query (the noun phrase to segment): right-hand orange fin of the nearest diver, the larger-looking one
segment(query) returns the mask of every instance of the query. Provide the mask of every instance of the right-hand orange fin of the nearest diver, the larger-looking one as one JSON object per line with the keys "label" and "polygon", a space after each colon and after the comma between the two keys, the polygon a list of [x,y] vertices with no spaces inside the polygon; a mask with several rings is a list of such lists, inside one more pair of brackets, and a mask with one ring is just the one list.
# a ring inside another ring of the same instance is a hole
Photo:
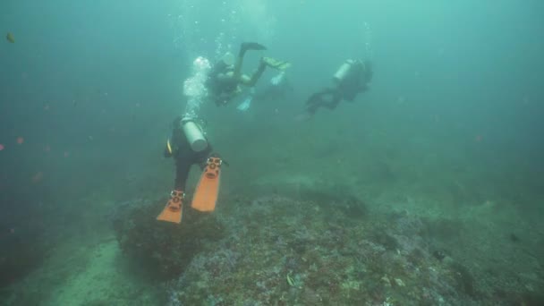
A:
{"label": "right-hand orange fin of the nearest diver, the larger-looking one", "polygon": [[192,197],[191,208],[200,211],[214,211],[216,209],[217,194],[221,178],[221,158],[209,157],[204,172],[200,176],[197,190]]}

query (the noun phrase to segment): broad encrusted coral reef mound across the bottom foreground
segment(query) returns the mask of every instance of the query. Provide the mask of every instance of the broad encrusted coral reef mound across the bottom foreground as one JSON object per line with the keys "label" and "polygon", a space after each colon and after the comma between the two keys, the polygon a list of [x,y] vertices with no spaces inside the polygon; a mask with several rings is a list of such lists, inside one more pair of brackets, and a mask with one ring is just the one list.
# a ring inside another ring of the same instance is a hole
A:
{"label": "broad encrusted coral reef mound across the bottom foreground", "polygon": [[[124,251],[172,279],[166,285],[169,305],[540,301],[526,283],[497,294],[496,278],[481,273],[481,262],[456,259],[436,242],[451,238],[462,224],[429,222],[406,212],[370,213],[363,201],[349,196],[315,193],[306,199],[227,199],[212,215],[186,209],[181,227],[157,225],[149,217],[155,211],[140,208],[123,225],[119,233],[128,225],[128,234],[119,241]],[[541,288],[541,281],[531,287]]]}

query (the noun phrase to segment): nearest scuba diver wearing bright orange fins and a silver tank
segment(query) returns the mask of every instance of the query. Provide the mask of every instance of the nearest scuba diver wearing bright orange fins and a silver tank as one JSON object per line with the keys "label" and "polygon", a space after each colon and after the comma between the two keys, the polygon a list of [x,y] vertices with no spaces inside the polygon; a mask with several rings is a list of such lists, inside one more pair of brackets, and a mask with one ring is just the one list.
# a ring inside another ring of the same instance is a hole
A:
{"label": "nearest scuba diver wearing bright orange fins and a silver tank", "polygon": [[191,208],[209,212],[216,208],[219,179],[223,161],[205,138],[200,126],[191,118],[174,119],[172,136],[166,141],[165,157],[174,157],[175,181],[170,200],[158,215],[157,220],[181,223],[185,183],[192,165],[203,170],[194,192]]}

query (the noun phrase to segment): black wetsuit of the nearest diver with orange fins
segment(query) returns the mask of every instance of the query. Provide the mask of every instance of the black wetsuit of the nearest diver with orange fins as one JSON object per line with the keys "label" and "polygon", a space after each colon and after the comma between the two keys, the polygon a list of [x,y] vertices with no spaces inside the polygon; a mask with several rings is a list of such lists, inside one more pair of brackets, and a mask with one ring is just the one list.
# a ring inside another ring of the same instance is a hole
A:
{"label": "black wetsuit of the nearest diver with orange fins", "polygon": [[212,148],[208,142],[208,147],[206,149],[200,152],[193,151],[179,124],[179,120],[174,121],[174,129],[172,130],[170,144],[173,152],[170,154],[168,149],[165,149],[165,157],[174,157],[175,160],[174,189],[185,191],[185,183],[187,182],[187,177],[189,177],[191,166],[198,164],[201,169],[204,169]]}

